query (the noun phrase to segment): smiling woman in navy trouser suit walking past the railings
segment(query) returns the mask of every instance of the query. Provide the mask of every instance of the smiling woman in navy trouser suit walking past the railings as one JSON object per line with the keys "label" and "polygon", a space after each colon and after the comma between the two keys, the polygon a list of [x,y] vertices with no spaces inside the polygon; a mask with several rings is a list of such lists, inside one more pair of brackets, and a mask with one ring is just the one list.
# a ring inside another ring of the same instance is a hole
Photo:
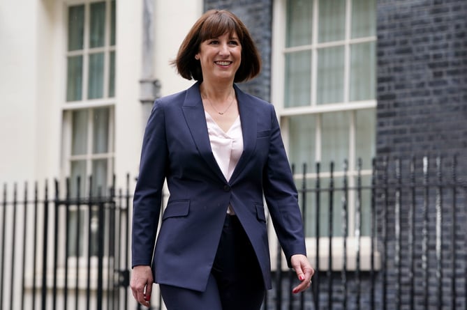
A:
{"label": "smiling woman in navy trouser suit walking past the railings", "polygon": [[[263,195],[300,281],[293,293],[309,288],[314,271],[274,107],[234,84],[260,72],[249,31],[232,13],[210,10],[174,64],[197,82],[156,100],[144,133],[133,296],[148,306],[155,281],[169,310],[260,309],[271,288]],[[170,197],[156,242],[164,180]]]}

